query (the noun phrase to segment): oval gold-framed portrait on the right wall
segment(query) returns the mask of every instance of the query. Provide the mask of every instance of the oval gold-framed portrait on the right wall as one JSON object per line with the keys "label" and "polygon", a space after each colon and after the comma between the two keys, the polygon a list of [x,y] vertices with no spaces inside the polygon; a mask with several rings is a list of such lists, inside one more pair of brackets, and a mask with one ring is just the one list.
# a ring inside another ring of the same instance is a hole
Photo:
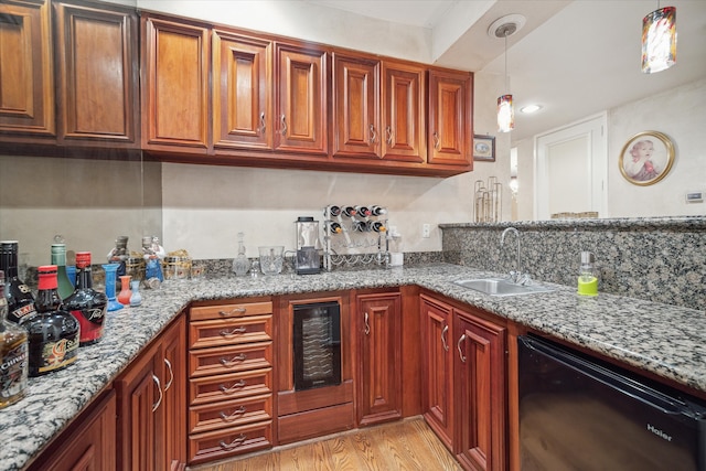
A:
{"label": "oval gold-framed portrait on the right wall", "polygon": [[620,173],[630,183],[646,186],[666,176],[674,163],[674,143],[663,132],[643,131],[631,137],[620,152]]}

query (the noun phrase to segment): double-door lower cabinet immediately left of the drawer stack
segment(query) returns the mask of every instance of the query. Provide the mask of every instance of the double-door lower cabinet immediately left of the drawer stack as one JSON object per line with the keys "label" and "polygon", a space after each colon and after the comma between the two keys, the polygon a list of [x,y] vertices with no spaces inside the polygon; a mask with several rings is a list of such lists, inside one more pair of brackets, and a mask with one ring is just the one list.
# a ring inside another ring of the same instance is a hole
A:
{"label": "double-door lower cabinet immediately left of the drawer stack", "polygon": [[180,315],[115,381],[118,469],[150,471],[184,464],[184,331]]}

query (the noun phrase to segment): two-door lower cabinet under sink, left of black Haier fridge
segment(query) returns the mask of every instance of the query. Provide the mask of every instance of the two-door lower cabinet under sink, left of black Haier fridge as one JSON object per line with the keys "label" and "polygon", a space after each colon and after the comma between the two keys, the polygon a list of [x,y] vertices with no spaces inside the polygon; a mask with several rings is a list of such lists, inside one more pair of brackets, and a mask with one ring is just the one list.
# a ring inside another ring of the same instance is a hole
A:
{"label": "two-door lower cabinet under sink, left of black Haier fridge", "polygon": [[464,469],[505,470],[506,328],[435,297],[420,304],[427,422]]}

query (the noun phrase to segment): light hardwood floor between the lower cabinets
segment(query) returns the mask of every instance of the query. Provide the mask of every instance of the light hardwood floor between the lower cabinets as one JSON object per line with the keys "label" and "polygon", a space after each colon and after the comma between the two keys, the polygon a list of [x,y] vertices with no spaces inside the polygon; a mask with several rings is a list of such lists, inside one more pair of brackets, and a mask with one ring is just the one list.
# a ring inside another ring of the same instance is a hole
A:
{"label": "light hardwood floor between the lower cabinets", "polygon": [[277,447],[194,471],[460,471],[420,417]]}

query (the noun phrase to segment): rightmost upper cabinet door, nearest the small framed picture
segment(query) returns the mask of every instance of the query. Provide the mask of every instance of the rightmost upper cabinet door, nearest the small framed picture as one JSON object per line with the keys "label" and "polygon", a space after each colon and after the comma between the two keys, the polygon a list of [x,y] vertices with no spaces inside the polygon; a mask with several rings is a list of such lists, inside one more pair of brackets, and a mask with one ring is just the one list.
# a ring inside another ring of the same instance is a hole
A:
{"label": "rightmost upper cabinet door, nearest the small framed picture", "polygon": [[472,165],[472,75],[429,71],[429,163]]}

